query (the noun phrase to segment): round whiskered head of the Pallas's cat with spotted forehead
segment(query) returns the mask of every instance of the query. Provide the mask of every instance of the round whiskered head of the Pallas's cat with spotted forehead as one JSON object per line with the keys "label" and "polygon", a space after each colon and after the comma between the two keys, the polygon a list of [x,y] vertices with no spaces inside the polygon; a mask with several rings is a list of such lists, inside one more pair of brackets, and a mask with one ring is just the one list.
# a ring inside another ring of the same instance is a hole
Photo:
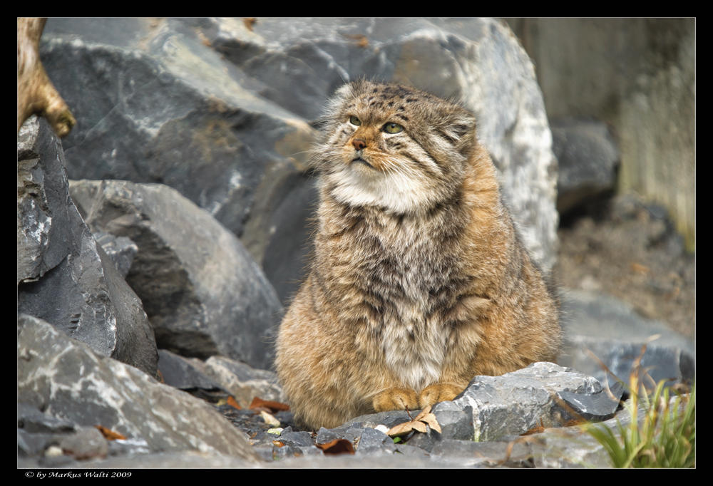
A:
{"label": "round whiskered head of the Pallas's cat with spotted forehead", "polygon": [[317,151],[323,183],[349,205],[423,212],[455,190],[474,141],[471,113],[404,86],[341,88]]}

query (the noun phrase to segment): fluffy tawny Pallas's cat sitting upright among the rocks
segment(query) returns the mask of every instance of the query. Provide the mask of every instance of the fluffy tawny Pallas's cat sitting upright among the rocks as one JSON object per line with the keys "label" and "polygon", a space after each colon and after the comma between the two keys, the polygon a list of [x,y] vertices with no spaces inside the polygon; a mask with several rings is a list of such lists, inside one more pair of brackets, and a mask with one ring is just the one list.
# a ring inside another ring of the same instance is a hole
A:
{"label": "fluffy tawny Pallas's cat sitting upright among the rocks", "polygon": [[555,360],[557,304],[515,232],[472,113],[357,81],[329,105],[315,161],[314,255],[276,359],[304,425],[422,408],[474,376]]}

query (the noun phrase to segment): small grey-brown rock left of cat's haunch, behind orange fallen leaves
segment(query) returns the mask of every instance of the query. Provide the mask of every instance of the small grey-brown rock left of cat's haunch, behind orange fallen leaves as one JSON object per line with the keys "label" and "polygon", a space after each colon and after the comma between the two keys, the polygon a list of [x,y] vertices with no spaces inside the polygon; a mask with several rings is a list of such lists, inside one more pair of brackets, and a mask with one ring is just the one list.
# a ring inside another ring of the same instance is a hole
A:
{"label": "small grey-brown rock left of cat's haunch, behind orange fallen leaves", "polygon": [[225,356],[211,356],[205,361],[205,373],[235,397],[242,408],[250,407],[255,397],[282,402],[282,387],[272,371],[251,368]]}

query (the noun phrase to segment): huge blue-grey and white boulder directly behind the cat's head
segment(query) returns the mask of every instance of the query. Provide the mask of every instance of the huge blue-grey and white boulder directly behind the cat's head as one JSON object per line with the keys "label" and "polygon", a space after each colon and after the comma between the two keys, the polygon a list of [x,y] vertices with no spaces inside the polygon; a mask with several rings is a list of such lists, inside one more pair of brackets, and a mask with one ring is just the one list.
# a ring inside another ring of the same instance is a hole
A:
{"label": "huge blue-grey and white boulder directly behind the cat's head", "polygon": [[552,267],[550,130],[530,58],[501,22],[50,19],[41,52],[78,115],[70,176],[174,187],[243,239],[283,302],[309,251],[307,120],[360,76],[463,100],[528,249]]}

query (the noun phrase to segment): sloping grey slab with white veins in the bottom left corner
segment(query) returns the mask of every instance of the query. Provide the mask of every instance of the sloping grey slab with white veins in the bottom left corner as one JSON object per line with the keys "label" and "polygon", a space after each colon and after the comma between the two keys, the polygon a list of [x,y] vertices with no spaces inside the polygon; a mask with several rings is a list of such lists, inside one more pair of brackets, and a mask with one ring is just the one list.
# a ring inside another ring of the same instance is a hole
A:
{"label": "sloping grey slab with white veins in the bottom left corner", "polygon": [[101,424],[155,451],[193,450],[257,460],[245,433],[210,405],[132,366],[94,353],[44,321],[18,317],[18,392],[35,391],[48,415]]}

